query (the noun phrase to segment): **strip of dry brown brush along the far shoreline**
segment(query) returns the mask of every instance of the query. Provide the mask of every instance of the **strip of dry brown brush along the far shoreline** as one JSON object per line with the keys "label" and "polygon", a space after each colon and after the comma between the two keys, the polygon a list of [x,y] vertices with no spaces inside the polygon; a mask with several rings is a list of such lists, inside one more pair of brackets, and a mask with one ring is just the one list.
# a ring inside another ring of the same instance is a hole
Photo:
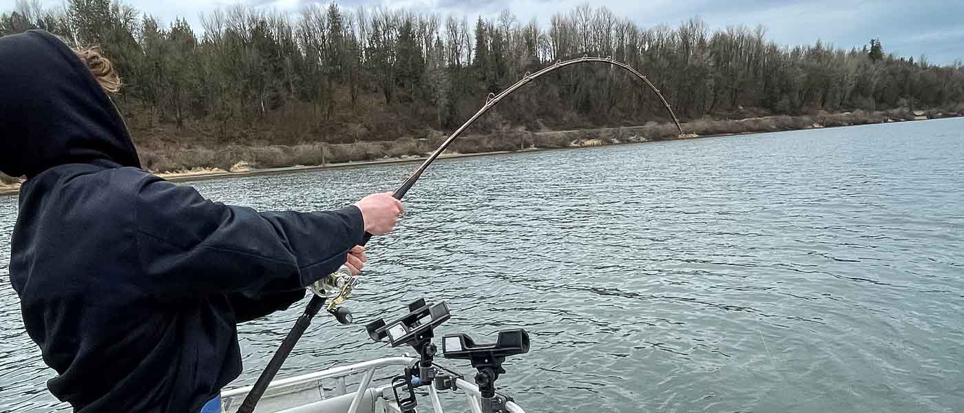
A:
{"label": "strip of dry brown brush along the far shoreline", "polygon": [[[964,112],[964,106],[948,108],[943,113],[928,116],[947,116],[951,110]],[[942,115],[943,114],[943,115]],[[844,114],[818,112],[814,116],[764,116],[741,120],[713,120],[709,118],[683,123],[685,137],[742,134],[753,132],[776,132],[815,127],[832,127],[880,123],[912,118],[907,110],[869,113],[854,111]],[[381,127],[388,127],[382,125]],[[560,148],[625,142],[651,142],[679,139],[679,131],[671,122],[648,122],[644,126],[589,129],[561,132],[533,133],[517,128],[498,128],[488,134],[469,134],[453,142],[450,150],[456,153],[482,153],[513,151],[527,148]],[[362,133],[362,131],[358,131]],[[254,132],[252,133],[255,134]],[[390,136],[390,135],[389,135]],[[434,150],[446,137],[438,131],[425,129],[416,137],[403,136],[394,141],[333,139],[342,143],[295,143],[291,145],[264,145],[257,140],[246,144],[217,146],[199,139],[197,146],[178,147],[174,142],[154,143],[141,146],[141,160],[145,168],[160,171],[184,171],[194,168],[230,170],[238,163],[250,168],[283,168],[293,166],[320,166],[325,164],[362,162],[378,159],[424,156]],[[299,141],[295,138],[293,141]],[[347,141],[347,142],[346,142]],[[13,184],[19,180],[0,175],[0,182]]]}

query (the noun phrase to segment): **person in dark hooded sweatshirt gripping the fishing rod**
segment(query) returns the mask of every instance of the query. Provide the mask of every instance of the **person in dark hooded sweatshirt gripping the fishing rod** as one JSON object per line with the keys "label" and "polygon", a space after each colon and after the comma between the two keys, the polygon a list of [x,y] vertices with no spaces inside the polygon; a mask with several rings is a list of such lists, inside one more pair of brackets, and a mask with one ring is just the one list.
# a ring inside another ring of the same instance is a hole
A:
{"label": "person in dark hooded sweatshirt gripping the fishing rod", "polygon": [[0,171],[27,177],[13,289],[58,373],[50,392],[75,411],[198,412],[241,373],[236,324],[346,260],[361,270],[356,245],[401,203],[258,213],[153,176],[89,57],[42,31],[0,39]]}

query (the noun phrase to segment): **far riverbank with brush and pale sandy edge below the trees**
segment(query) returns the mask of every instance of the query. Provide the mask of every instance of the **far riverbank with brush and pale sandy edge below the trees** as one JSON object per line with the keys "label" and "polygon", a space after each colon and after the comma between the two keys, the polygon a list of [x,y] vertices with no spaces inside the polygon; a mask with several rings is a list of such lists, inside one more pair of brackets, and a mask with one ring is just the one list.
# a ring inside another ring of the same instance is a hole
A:
{"label": "far riverbank with brush and pale sandy edge below the trees", "polygon": [[[570,131],[507,131],[491,135],[467,135],[452,143],[443,159],[457,159],[521,151],[610,144],[672,141],[782,132],[827,127],[891,123],[931,118],[957,117],[959,114],[930,113],[927,116],[906,111],[856,111],[817,116],[763,116],[746,119],[693,120],[684,122],[683,135],[672,123],[650,122],[642,126],[623,126]],[[188,148],[162,153],[142,150],[145,166],[171,181],[199,181],[230,177],[296,173],[325,168],[360,168],[421,162],[445,137],[411,138],[387,142],[341,144],[304,144],[294,146],[233,146],[223,149]],[[294,166],[292,166],[294,165]],[[167,166],[167,168],[157,168]],[[153,167],[153,168],[152,168]],[[178,168],[179,167],[179,168]],[[164,170],[159,171],[157,170]],[[16,194],[20,184],[5,177],[0,195]]]}

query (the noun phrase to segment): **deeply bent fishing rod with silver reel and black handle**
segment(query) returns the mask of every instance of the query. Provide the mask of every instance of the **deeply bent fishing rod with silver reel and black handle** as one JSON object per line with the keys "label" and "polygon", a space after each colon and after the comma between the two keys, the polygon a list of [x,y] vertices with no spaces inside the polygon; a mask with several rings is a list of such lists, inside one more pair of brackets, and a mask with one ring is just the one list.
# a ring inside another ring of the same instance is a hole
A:
{"label": "deeply bent fishing rod with silver reel and black handle", "polygon": [[[409,190],[415,185],[415,182],[418,181],[418,178],[421,177],[422,172],[432,165],[432,163],[435,162],[440,155],[442,155],[442,152],[448,148],[448,146],[460,135],[462,135],[462,132],[468,129],[469,126],[479,118],[479,116],[485,115],[486,112],[489,112],[490,109],[492,109],[506,96],[512,94],[516,90],[519,90],[529,82],[562,67],[568,65],[593,63],[622,67],[635,75],[637,78],[641,79],[646,86],[656,93],[656,96],[659,97],[659,100],[666,108],[666,111],[673,118],[673,122],[676,123],[676,127],[680,130],[680,134],[683,135],[683,127],[680,126],[680,120],[676,117],[676,114],[673,113],[673,109],[669,107],[669,103],[666,102],[666,99],[663,97],[662,93],[656,89],[656,86],[654,86],[653,83],[646,78],[646,76],[631,66],[619,61],[615,61],[611,56],[605,58],[582,56],[581,58],[568,61],[556,61],[554,65],[546,66],[535,73],[525,72],[525,75],[522,76],[522,79],[510,86],[508,89],[502,90],[498,94],[489,93],[489,96],[486,99],[485,105],[482,106],[482,109],[479,109],[475,115],[471,116],[469,120],[456,129],[455,132],[448,137],[448,139],[442,142],[442,145],[440,145],[435,152],[432,152],[432,154],[429,155],[424,162],[422,162],[421,166],[416,168],[415,172],[409,175],[409,177],[402,182],[402,185],[399,186],[394,193],[392,193],[392,196],[395,199],[401,200],[405,194],[408,194]],[[369,240],[371,240],[371,234],[365,233],[362,240],[362,245],[368,244]],[[258,400],[261,399],[261,396],[264,395],[265,390],[268,389],[268,385],[271,383],[271,380],[273,380],[275,375],[281,370],[281,365],[284,363],[284,360],[291,353],[291,350],[295,347],[295,344],[298,343],[298,340],[301,340],[301,337],[305,334],[305,331],[308,329],[308,325],[311,324],[311,319],[313,319],[314,316],[318,314],[318,311],[320,311],[323,307],[326,308],[329,313],[334,315],[339,323],[351,323],[351,313],[349,313],[346,308],[338,307],[337,305],[347,300],[351,295],[352,289],[354,289],[357,285],[358,279],[355,276],[352,276],[346,267],[342,266],[340,269],[338,269],[338,271],[335,271],[335,273],[328,275],[324,279],[317,281],[309,287],[309,290],[311,290],[313,294],[311,299],[308,301],[308,307],[305,308],[305,312],[298,317],[298,321],[296,321],[295,325],[291,327],[290,331],[288,331],[287,336],[284,337],[284,341],[281,342],[281,346],[271,357],[271,361],[268,362],[267,367],[265,367],[264,371],[261,372],[261,375],[257,377],[257,381],[254,382],[252,390],[248,392],[248,396],[245,397],[244,402],[241,403],[241,407],[238,408],[238,413],[254,412],[254,406],[257,404]],[[327,306],[325,305],[326,300],[330,300],[328,301],[329,305]]]}

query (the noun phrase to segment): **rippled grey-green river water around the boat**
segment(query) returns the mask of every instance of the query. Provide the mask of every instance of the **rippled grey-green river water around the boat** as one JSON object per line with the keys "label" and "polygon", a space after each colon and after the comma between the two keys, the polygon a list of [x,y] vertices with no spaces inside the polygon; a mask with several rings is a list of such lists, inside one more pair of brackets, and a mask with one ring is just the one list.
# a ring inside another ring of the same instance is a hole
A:
{"label": "rippled grey-green river water around the boat", "polygon": [[[312,210],[413,168],[196,186]],[[440,334],[525,328],[498,384],[534,412],[962,411],[962,188],[964,119],[442,161],[369,244],[351,308],[425,297],[452,310]],[[0,412],[63,409],[7,275],[15,216],[0,197]],[[241,326],[233,385],[306,301]],[[319,317],[281,374],[397,353]]]}

